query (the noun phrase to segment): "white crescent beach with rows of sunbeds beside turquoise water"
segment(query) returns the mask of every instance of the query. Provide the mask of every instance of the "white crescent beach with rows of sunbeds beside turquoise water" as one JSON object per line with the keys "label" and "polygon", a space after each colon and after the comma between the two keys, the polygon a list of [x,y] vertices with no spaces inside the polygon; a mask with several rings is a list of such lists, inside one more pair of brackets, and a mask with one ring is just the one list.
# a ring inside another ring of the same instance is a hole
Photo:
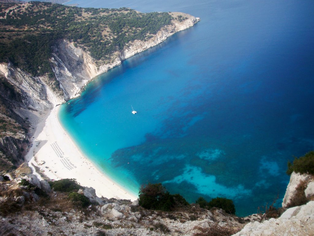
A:
{"label": "white crescent beach with rows of sunbeds beside turquoise water", "polygon": [[59,123],[59,109],[60,106],[54,107],[46,121],[38,125],[31,139],[33,146],[25,156],[29,166],[34,169],[33,163],[40,167],[51,179],[75,178],[82,186],[93,187],[99,197],[136,200],[138,196],[101,173],[84,156]]}

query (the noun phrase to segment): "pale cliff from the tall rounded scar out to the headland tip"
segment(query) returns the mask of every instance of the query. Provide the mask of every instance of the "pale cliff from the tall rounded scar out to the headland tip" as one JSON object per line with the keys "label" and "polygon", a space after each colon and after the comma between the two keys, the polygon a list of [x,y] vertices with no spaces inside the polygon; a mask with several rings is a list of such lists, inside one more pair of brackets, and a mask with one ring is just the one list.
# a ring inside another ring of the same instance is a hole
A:
{"label": "pale cliff from the tall rounded scar out to the headland tip", "polygon": [[[171,14],[175,17],[179,13]],[[57,80],[60,82],[64,99],[68,100],[78,96],[89,80],[121,64],[122,60],[160,44],[171,35],[193,26],[200,20],[188,14],[180,13],[180,15],[186,19],[182,22],[173,20],[172,25],[165,26],[147,41],[132,41],[122,52],[115,52],[109,63],[100,64],[89,53],[75,47],[73,43],[65,40],[59,41],[58,45],[53,48],[51,65]]]}

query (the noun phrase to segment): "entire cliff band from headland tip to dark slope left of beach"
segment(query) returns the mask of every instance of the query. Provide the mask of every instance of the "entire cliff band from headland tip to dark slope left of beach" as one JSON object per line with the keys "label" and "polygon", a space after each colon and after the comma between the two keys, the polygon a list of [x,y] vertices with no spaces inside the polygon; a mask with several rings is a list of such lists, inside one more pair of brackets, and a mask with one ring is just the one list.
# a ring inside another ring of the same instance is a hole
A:
{"label": "entire cliff band from headland tip to dark slope left of beach", "polygon": [[[177,14],[172,13],[173,16]],[[108,62],[95,61],[88,52],[75,47],[73,43],[59,40],[53,47],[50,59],[51,68],[57,81],[51,80],[48,76],[34,77],[15,68],[10,63],[0,63],[1,81],[5,85],[0,87],[3,110],[6,111],[7,119],[12,119],[13,123],[18,124],[21,134],[20,136],[10,132],[1,134],[1,163],[8,162],[11,166],[20,164],[23,161],[28,140],[33,136],[37,125],[47,118],[54,106],[79,96],[84,85],[95,76],[119,65],[122,60],[138,52],[158,45],[167,37],[187,29],[199,21],[199,18],[188,14],[180,13],[180,15],[184,18],[181,22],[174,19],[172,25],[164,27],[149,40],[136,40],[129,43],[123,51],[115,52]],[[9,96],[8,88],[11,90],[13,88],[14,99]],[[3,111],[0,113],[4,115]],[[6,156],[10,156],[10,158],[3,160]]]}

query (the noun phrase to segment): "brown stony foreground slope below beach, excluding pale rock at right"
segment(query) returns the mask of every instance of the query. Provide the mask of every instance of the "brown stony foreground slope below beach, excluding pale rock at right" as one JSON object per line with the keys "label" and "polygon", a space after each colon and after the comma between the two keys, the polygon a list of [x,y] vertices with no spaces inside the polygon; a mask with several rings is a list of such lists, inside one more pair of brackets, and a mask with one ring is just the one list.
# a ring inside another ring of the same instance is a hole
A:
{"label": "brown stony foreground slope below beach, excluding pale rock at right", "polygon": [[[26,182],[21,186],[23,179],[32,184],[27,186]],[[98,198],[92,188],[79,192],[96,204],[80,207],[68,200],[68,193],[49,193],[46,183],[32,174],[20,174],[12,181],[0,183],[0,190],[0,232],[5,236],[192,236],[212,227],[237,232],[247,221],[260,219],[255,215],[244,220],[219,209],[208,211],[196,205],[173,212],[149,211],[138,206],[138,200]]]}

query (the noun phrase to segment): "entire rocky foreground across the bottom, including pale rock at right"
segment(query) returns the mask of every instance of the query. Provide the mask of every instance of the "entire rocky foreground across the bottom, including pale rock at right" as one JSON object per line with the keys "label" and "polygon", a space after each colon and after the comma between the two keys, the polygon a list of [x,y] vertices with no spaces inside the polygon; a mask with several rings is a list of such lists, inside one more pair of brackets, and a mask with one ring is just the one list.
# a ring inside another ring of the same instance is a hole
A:
{"label": "entire rocky foreground across the bottom, including pale rock at right", "polygon": [[[0,176],[0,232],[5,236],[307,236],[314,232],[314,201],[283,209],[277,219],[268,213],[240,218],[195,204],[171,212],[146,210],[138,200],[99,198],[95,189],[85,187],[78,193],[92,204],[83,207],[69,200],[68,193],[54,191],[46,181],[39,181],[26,165],[10,177],[14,179],[5,181]],[[312,185],[309,182],[306,192],[313,197]]]}

